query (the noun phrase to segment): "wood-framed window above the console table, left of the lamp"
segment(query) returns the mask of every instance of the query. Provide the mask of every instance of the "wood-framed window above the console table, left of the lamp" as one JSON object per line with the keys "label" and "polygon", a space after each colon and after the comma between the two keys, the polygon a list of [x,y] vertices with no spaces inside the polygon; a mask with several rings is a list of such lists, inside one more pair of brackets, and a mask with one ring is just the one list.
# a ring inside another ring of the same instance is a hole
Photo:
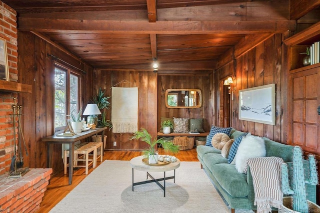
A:
{"label": "wood-framed window above the console table, left of the lamp", "polygon": [[72,111],[80,109],[79,75],[72,70],[55,64],[54,66],[54,129],[66,126],[66,119]]}

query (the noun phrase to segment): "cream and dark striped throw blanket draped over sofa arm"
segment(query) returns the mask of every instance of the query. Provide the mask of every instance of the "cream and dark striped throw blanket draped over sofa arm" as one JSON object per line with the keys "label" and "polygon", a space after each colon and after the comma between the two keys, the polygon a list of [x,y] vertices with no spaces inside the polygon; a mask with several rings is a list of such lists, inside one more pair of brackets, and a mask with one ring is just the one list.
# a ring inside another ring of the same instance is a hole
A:
{"label": "cream and dark striped throw blanket draped over sofa arm", "polygon": [[271,207],[280,208],[283,193],[281,190],[281,164],[278,157],[249,158],[245,167],[250,167],[254,189],[254,205],[257,213],[271,212]]}

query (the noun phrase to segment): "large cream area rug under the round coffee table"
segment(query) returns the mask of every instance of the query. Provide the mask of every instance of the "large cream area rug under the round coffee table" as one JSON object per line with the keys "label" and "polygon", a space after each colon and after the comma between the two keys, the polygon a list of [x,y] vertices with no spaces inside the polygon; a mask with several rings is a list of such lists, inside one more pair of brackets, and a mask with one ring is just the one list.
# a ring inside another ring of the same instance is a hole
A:
{"label": "large cream area rug under the round coffee table", "polygon": [[[163,173],[151,173],[163,178]],[[173,171],[166,172],[166,177]],[[146,180],[134,170],[134,182]],[[163,184],[163,182],[161,182]],[[155,184],[134,186],[129,161],[105,160],[50,213],[229,213],[199,162],[181,162],[166,192]]]}

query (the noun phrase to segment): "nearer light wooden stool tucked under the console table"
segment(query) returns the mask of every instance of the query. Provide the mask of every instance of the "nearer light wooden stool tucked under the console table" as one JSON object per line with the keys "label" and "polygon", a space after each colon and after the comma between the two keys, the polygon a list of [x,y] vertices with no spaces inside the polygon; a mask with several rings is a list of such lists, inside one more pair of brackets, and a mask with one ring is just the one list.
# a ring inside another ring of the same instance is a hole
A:
{"label": "nearer light wooden stool tucked under the console table", "polygon": [[[90,145],[89,143],[84,144],[83,146],[78,146],[74,148],[74,160],[73,167],[85,167],[85,175],[88,174],[89,166],[92,164],[92,167],[95,168],[96,165],[96,147]],[[89,153],[93,152],[93,158],[89,159]],[[66,174],[66,168],[69,166],[67,164],[66,158],[69,155],[69,150],[64,150],[63,161],[64,161],[64,175]],[[78,157],[78,155],[82,155]],[[85,162],[84,165],[78,165],[77,162]]]}

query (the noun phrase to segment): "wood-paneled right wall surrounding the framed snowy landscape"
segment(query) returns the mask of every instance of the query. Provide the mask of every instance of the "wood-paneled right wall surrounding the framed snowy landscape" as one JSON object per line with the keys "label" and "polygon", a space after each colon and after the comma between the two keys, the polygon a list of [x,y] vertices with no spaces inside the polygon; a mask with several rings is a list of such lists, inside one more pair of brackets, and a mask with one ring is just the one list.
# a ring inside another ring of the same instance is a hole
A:
{"label": "wood-paneled right wall surrounding the framed snowy landscape", "polygon": [[[220,81],[223,81],[227,75],[235,74],[236,81],[231,85],[234,91],[234,99],[231,101],[231,126],[243,132],[250,132],[253,135],[268,137],[271,140],[286,143],[285,126],[283,126],[283,111],[286,109],[286,101],[283,96],[286,91],[287,79],[285,69],[281,69],[281,43],[282,35],[275,34],[264,40],[262,43],[251,48],[229,61],[215,72],[216,80],[215,91],[216,100],[219,100]],[[238,91],[240,89],[251,88],[261,85],[275,83],[276,87],[276,123],[267,125],[238,119]],[[282,92],[281,92],[282,91]],[[220,102],[216,105],[216,111],[220,108]],[[216,120],[218,123],[218,118]]]}

